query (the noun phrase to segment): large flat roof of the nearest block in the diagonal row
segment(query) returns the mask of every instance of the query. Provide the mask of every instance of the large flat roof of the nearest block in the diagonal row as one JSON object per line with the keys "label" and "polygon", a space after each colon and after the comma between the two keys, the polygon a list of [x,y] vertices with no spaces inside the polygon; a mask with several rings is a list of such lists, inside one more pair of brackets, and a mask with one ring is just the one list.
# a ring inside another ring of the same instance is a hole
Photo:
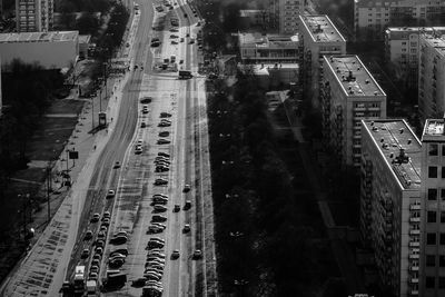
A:
{"label": "large flat roof of the nearest block in the diagonal row", "polygon": [[422,143],[403,119],[362,120],[362,125],[405,189],[421,188]]}

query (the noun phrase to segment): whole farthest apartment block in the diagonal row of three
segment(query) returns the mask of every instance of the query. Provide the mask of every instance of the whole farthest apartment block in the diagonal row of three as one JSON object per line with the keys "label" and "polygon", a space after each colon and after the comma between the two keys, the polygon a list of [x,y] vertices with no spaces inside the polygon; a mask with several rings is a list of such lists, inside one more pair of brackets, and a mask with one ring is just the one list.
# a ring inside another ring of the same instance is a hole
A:
{"label": "whole farthest apartment block in the diagonal row of three", "polygon": [[346,55],[346,40],[326,14],[299,16],[299,23],[301,83],[305,97],[318,107],[323,56]]}

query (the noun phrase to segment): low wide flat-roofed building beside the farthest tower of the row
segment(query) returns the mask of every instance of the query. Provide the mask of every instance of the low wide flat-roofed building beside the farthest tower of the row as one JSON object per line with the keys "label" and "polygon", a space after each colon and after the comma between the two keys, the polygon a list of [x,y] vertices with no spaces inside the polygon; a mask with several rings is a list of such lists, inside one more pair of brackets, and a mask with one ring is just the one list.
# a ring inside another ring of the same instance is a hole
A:
{"label": "low wide flat-roofed building beside the farthest tower of the row", "polygon": [[298,60],[298,36],[238,33],[238,38],[244,63],[296,63]]}

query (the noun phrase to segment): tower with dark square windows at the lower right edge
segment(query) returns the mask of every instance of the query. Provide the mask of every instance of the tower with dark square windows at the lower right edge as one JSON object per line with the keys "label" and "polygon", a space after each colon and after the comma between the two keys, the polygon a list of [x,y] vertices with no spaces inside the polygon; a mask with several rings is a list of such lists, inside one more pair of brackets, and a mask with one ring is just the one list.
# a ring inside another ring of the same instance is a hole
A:
{"label": "tower with dark square windows at the lower right edge", "polygon": [[445,296],[445,121],[427,119],[422,135],[419,294]]}

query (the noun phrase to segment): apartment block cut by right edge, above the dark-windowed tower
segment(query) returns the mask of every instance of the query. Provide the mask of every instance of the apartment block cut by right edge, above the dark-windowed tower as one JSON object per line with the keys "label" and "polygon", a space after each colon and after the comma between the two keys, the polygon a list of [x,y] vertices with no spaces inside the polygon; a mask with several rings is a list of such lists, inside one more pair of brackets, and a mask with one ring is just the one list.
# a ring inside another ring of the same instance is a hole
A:
{"label": "apartment block cut by right edge, above the dark-windowed tower", "polygon": [[421,121],[445,112],[445,36],[421,36],[418,111]]}

